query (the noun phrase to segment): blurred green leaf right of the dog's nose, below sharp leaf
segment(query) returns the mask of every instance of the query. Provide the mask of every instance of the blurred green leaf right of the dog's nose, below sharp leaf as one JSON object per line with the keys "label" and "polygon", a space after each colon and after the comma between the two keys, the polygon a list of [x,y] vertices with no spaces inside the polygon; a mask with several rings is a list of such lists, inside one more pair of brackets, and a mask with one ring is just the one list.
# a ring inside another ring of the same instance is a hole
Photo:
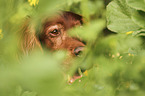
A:
{"label": "blurred green leaf right of the dog's nose, below sharp leaf", "polygon": [[104,56],[116,54],[117,52],[127,53],[129,48],[137,48],[140,44],[139,38],[126,36],[125,34],[109,36],[96,44],[94,52],[96,55],[102,55],[103,53]]}

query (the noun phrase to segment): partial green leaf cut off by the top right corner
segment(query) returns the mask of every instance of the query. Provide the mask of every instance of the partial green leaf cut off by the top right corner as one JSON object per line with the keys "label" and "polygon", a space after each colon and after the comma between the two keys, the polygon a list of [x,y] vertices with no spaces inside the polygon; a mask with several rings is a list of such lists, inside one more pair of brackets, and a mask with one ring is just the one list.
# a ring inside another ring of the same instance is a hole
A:
{"label": "partial green leaf cut off by the top right corner", "polygon": [[145,11],[145,0],[126,0],[126,2],[134,9]]}

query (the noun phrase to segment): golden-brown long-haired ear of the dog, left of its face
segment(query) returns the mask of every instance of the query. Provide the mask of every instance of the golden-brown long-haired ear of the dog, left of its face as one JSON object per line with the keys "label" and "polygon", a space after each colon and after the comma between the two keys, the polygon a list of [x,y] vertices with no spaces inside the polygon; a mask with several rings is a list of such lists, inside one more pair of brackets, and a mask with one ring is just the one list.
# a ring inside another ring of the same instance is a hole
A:
{"label": "golden-brown long-haired ear of the dog, left of its face", "polygon": [[20,46],[24,54],[28,54],[34,48],[41,48],[40,42],[36,37],[35,25],[30,23],[31,18],[26,18],[21,28]]}

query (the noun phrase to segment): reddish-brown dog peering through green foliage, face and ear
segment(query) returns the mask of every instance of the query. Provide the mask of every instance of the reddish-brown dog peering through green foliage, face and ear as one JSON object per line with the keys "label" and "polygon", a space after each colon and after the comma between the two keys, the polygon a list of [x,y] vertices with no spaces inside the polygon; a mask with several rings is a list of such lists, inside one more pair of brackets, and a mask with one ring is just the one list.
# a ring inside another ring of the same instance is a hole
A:
{"label": "reddish-brown dog peering through green foliage, face and ear", "polygon": [[[77,56],[83,50],[85,44],[79,38],[70,37],[67,31],[75,26],[82,26],[82,16],[72,12],[61,12],[53,18],[43,20],[42,28],[36,35],[36,30],[33,25],[28,25],[29,20],[23,28],[22,49],[28,53],[34,47],[43,49],[49,48],[52,50],[65,49],[71,55]],[[26,27],[27,26],[27,27]],[[43,47],[42,47],[43,46]]]}

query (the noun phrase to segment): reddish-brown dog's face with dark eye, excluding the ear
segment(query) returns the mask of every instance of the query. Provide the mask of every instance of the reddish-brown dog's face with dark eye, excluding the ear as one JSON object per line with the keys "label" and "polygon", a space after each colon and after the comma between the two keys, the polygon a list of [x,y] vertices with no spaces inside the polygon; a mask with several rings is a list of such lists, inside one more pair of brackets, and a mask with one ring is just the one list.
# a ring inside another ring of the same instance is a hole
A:
{"label": "reddish-brown dog's face with dark eye, excluding the ear", "polygon": [[43,23],[40,42],[52,50],[65,49],[77,56],[83,50],[85,44],[79,38],[70,37],[67,31],[76,26],[82,26],[82,16],[63,12],[54,18],[47,19]]}

